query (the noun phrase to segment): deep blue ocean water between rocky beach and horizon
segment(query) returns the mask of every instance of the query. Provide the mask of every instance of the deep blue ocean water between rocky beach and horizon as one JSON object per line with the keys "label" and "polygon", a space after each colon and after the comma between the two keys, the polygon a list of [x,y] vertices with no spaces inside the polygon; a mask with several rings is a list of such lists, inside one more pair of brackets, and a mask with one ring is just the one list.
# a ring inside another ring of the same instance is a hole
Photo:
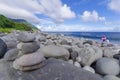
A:
{"label": "deep blue ocean water between rocky beach and horizon", "polygon": [[110,43],[120,44],[120,32],[50,32],[55,34],[64,34],[65,36],[72,36],[78,38],[87,38],[102,42],[102,35],[106,35]]}

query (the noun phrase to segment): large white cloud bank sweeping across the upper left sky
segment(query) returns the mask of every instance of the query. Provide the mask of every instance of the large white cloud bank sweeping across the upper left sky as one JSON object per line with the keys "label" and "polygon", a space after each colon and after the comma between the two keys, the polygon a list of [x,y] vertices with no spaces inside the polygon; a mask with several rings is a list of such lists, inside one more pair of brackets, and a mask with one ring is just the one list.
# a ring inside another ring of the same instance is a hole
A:
{"label": "large white cloud bank sweeping across the upper left sky", "polygon": [[54,22],[63,22],[75,17],[70,7],[61,0],[0,0],[0,14],[10,18],[22,18],[29,22],[39,22],[35,14],[45,15]]}

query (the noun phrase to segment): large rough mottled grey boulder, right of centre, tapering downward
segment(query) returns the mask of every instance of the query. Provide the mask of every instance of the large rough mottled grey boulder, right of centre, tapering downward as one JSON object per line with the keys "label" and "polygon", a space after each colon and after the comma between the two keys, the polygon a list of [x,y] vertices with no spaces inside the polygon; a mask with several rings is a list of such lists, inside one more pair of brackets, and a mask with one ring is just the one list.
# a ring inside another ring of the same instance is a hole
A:
{"label": "large rough mottled grey boulder, right of centre, tapering downward", "polygon": [[78,56],[81,57],[81,64],[83,66],[89,66],[103,55],[102,50],[97,47],[85,47],[81,49]]}

